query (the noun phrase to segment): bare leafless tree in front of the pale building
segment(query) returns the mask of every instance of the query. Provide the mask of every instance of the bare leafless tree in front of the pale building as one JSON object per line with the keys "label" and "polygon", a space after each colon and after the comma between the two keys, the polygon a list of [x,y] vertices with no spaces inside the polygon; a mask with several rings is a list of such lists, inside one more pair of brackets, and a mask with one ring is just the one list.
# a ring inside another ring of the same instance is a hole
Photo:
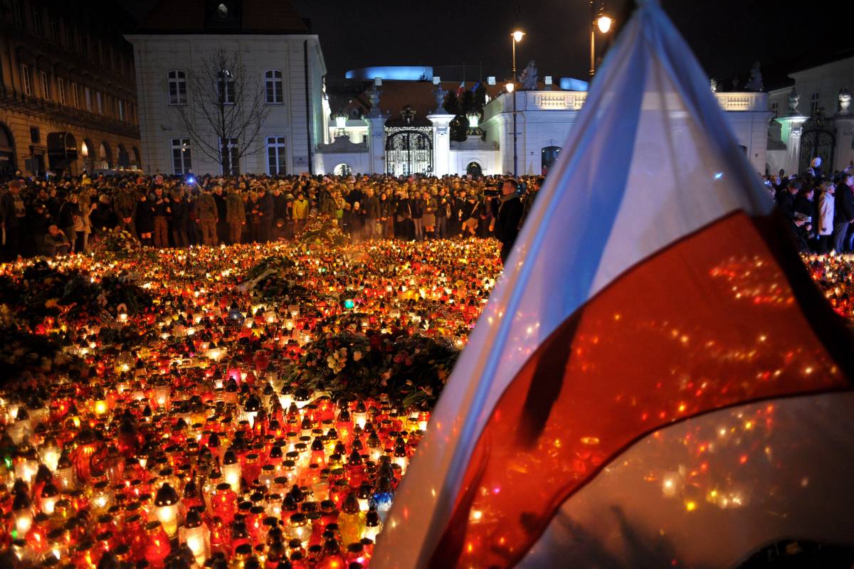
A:
{"label": "bare leafless tree in front of the pale building", "polygon": [[190,71],[190,104],[174,107],[196,148],[223,173],[237,174],[240,159],[261,148],[255,142],[270,112],[261,84],[239,53],[219,49]]}

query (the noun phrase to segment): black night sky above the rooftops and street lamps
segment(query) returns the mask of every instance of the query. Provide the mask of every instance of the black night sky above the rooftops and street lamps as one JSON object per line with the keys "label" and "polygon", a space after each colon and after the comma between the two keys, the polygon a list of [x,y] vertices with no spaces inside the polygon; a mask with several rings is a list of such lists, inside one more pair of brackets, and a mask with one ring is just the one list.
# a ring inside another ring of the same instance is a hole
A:
{"label": "black night sky above the rooftops and street lamps", "polygon": [[[179,0],[176,0],[179,1]],[[270,0],[280,2],[284,0]],[[625,23],[632,0],[605,0]],[[600,0],[596,0],[597,6]],[[155,0],[120,0],[142,18]],[[514,27],[528,35],[517,67],[535,60],[540,76],[587,78],[588,0],[292,0],[311,20],[324,50],[328,81],[372,65],[434,67],[443,78],[510,76]],[[787,84],[786,74],[854,55],[851,9],[842,3],[757,0],[661,0],[665,11],[723,90],[743,87],[753,61],[761,61],[766,89]],[[792,5],[793,4],[793,5]],[[834,22],[844,22],[834,25]],[[613,33],[600,46],[613,39]],[[601,49],[598,53],[601,53]],[[483,67],[481,67],[483,65]],[[483,69],[483,71],[481,71]],[[854,89],[854,85],[851,85]]]}

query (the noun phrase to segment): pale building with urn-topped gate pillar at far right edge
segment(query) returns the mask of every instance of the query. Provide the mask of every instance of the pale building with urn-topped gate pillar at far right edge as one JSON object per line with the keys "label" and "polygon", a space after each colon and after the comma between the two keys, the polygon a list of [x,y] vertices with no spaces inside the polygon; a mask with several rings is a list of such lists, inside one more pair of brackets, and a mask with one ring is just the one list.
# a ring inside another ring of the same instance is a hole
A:
{"label": "pale building with urn-topped gate pillar at far right edge", "polygon": [[854,57],[789,73],[793,85],[769,91],[775,121],[769,133],[769,171],[805,171],[816,157],[825,172],[854,160]]}

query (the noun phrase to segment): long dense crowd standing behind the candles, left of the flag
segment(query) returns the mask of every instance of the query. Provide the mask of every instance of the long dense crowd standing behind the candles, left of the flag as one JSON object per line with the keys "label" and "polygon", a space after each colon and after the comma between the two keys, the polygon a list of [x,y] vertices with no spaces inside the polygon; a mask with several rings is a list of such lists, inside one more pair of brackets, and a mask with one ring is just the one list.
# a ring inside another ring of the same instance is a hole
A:
{"label": "long dense crowd standing behind the candles, left of the flag", "polygon": [[[524,212],[542,183],[541,177],[512,180]],[[519,208],[508,206],[513,219],[496,234],[504,186],[503,177],[456,176],[17,177],[0,189],[3,260],[83,252],[114,228],[160,248],[288,240],[320,216],[355,242],[488,236],[506,242],[521,220]]]}

